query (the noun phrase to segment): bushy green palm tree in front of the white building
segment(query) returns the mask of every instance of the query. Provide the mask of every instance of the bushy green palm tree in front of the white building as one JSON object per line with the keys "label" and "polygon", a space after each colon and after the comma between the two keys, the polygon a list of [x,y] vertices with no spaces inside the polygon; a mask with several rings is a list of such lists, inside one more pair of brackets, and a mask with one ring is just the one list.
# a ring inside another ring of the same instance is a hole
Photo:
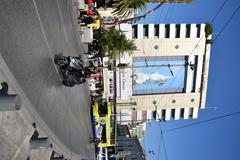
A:
{"label": "bushy green palm tree in front of the white building", "polygon": [[124,34],[121,34],[115,28],[101,29],[100,52],[108,55],[110,59],[116,59],[125,52],[132,54],[136,49],[133,40],[128,40]]}

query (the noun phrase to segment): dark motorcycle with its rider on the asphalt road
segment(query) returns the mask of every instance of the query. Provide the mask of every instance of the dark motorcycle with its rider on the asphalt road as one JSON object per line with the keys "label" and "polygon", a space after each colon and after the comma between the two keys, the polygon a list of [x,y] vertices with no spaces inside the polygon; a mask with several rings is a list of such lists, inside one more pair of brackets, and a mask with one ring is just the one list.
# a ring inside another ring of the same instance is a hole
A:
{"label": "dark motorcycle with its rider on the asphalt road", "polygon": [[63,76],[63,85],[73,87],[86,82],[91,72],[79,57],[55,55],[54,63],[59,66]]}

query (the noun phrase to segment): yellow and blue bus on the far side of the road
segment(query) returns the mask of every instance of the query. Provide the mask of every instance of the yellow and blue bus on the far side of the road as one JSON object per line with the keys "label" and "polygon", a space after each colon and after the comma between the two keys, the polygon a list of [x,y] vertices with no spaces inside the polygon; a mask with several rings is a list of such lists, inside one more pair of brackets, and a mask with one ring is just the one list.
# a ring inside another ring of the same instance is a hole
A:
{"label": "yellow and blue bus on the far side of the road", "polygon": [[115,119],[110,102],[93,104],[93,128],[94,137],[99,139],[98,147],[115,146]]}

